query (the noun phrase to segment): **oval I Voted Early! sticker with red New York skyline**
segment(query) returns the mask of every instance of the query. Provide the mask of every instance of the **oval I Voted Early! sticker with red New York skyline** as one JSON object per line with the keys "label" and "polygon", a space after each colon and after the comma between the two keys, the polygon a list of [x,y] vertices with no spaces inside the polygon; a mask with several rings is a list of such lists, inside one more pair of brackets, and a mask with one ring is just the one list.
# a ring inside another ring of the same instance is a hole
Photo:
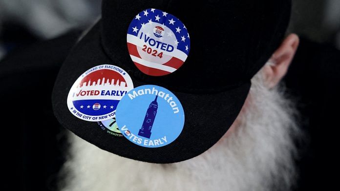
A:
{"label": "oval I Voted Early! sticker with red New York skyline", "polygon": [[118,102],[133,89],[130,76],[122,68],[103,64],[85,71],[67,96],[69,111],[85,121],[113,118]]}

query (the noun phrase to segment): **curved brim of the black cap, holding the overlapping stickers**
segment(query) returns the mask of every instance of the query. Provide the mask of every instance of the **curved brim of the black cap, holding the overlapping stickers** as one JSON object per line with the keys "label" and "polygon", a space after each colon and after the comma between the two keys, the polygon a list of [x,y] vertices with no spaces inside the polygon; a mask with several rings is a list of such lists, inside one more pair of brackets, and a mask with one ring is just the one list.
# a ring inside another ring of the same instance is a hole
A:
{"label": "curved brim of the black cap, holding the overlapping stickers", "polygon": [[[52,105],[62,126],[95,146],[114,154],[151,163],[174,163],[195,157],[211,148],[229,129],[240,112],[250,89],[250,82],[219,93],[192,94],[172,91],[180,100],[185,123],[179,137],[167,146],[145,148],[124,137],[113,137],[96,122],[73,116],[67,108],[67,95],[77,78],[87,69],[100,64],[113,64],[101,45],[99,21],[77,43],[65,60],[57,77]],[[132,61],[130,61],[132,62]],[[124,64],[119,64],[124,69]],[[146,85],[127,71],[134,87]]]}

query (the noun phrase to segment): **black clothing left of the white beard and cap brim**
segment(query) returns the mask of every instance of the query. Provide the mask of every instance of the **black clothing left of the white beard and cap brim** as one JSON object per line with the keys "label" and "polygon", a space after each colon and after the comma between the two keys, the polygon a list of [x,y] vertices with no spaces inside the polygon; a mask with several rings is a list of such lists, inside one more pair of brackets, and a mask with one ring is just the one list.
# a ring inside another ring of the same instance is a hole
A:
{"label": "black clothing left of the white beard and cap brim", "polygon": [[2,173],[13,191],[56,190],[64,162],[51,92],[80,32],[13,50],[0,62]]}

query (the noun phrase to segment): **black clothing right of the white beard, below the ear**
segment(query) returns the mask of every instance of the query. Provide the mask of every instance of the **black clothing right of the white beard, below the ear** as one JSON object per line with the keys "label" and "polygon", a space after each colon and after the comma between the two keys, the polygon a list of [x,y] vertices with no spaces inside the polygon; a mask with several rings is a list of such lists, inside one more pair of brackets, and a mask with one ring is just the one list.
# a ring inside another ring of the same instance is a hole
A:
{"label": "black clothing right of the white beard, below the ear", "polygon": [[340,51],[301,38],[284,81],[297,98],[306,135],[299,145],[297,190],[333,190],[339,150]]}

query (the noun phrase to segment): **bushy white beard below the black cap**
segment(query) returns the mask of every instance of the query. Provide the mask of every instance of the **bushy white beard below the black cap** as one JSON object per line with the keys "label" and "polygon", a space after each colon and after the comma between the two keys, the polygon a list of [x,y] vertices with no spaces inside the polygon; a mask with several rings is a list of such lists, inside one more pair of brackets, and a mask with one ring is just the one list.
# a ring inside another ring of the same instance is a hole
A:
{"label": "bushy white beard below the black cap", "polygon": [[150,164],[117,156],[68,133],[61,172],[63,191],[271,191],[290,190],[296,179],[294,106],[261,74],[232,133],[187,161]]}

